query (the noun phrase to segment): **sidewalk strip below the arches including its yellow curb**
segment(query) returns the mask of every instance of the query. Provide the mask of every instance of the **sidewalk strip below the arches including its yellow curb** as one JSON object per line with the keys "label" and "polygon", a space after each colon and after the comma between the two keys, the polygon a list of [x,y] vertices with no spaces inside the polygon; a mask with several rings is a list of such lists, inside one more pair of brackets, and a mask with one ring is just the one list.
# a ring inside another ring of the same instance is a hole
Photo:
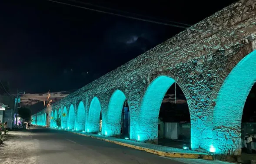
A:
{"label": "sidewalk strip below the arches including its yellow curb", "polygon": [[[55,129],[55,128],[53,128]],[[59,130],[59,129],[56,129]],[[62,130],[65,131],[65,130]],[[149,144],[138,141],[124,140],[120,138],[107,137],[98,134],[90,134],[85,132],[76,132],[76,131],[68,131],[73,134],[79,134],[90,138],[96,138],[107,142],[112,142],[115,144],[120,144],[122,146],[134,148],[141,151],[146,151],[152,154],[156,154],[163,157],[176,157],[176,158],[193,158],[193,159],[205,159],[205,160],[213,160],[213,156],[206,153],[201,153],[198,151],[190,151],[183,150],[180,148],[171,148],[157,144]]]}

